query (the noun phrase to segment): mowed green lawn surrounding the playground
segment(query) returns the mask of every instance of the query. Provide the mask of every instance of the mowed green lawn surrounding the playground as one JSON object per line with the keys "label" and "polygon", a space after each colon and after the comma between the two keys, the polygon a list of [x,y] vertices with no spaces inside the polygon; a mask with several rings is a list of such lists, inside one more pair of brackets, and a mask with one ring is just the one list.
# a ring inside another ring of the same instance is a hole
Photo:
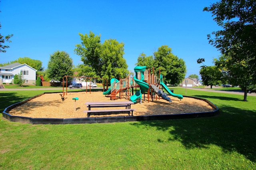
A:
{"label": "mowed green lawn surrounding the playground", "polygon": [[[172,89],[210,100],[220,115],[77,125],[0,118],[0,169],[256,169],[256,97]],[[1,91],[0,111],[43,92]]]}

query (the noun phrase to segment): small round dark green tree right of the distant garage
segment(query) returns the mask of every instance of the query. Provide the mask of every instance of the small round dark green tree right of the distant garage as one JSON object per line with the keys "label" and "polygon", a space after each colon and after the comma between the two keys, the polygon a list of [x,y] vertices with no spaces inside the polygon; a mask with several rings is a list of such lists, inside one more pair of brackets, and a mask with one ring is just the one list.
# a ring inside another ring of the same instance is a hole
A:
{"label": "small round dark green tree right of the distant garage", "polygon": [[220,77],[221,77],[221,71],[218,70],[216,66],[204,66],[201,67],[199,71],[201,77],[202,77],[202,82],[204,85],[208,86],[210,85],[211,89],[213,85],[218,84]]}

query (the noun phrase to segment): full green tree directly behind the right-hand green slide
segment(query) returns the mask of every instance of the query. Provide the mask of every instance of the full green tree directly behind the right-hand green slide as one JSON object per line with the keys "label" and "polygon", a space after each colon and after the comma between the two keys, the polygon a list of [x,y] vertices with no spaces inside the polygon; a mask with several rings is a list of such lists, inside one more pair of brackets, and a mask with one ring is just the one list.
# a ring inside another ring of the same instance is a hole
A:
{"label": "full green tree directly behind the right-hand green slide", "polygon": [[166,83],[177,85],[185,78],[185,61],[174,55],[168,45],[162,45],[154,52],[154,60],[156,69],[161,70]]}

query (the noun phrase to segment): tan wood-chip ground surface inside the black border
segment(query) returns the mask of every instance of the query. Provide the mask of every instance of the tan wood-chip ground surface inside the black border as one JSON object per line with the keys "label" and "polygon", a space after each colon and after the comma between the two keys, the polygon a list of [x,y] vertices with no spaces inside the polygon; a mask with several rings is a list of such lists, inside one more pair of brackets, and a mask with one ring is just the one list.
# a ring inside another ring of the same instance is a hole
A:
{"label": "tan wood-chip ground surface inside the black border", "polygon": [[[84,118],[87,117],[85,110],[86,102],[93,101],[111,101],[110,97],[105,97],[102,92],[73,92],[64,96],[65,100],[61,100],[60,93],[49,93],[36,97],[21,106],[12,109],[9,114],[22,117],[31,118]],[[78,97],[75,101],[72,98]],[[148,103],[142,98],[142,104],[138,100],[134,105],[131,105],[131,109],[136,109],[133,112],[134,116],[141,115],[170,115],[170,114],[183,114],[183,113],[200,113],[210,112],[215,109],[208,103],[202,100],[184,97],[181,101],[176,97],[169,96],[172,100],[172,104],[164,99],[150,100]],[[115,101],[127,101],[125,98]],[[93,110],[103,109],[120,109],[120,108],[92,108]],[[90,117],[111,117],[111,116],[128,116],[128,114],[113,114],[113,115],[91,115]]]}

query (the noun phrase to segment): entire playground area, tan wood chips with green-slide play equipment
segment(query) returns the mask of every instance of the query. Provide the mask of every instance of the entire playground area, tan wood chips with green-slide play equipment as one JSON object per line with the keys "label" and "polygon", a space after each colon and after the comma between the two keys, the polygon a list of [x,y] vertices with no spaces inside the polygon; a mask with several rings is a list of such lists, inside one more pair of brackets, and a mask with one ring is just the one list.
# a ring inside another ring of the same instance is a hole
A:
{"label": "entire playground area, tan wood chips with green-slide play equipment", "polygon": [[19,117],[54,119],[128,116],[128,111],[120,112],[117,108],[120,106],[113,104],[110,104],[111,110],[106,105],[99,104],[100,107],[95,106],[91,110],[98,111],[95,115],[88,113],[90,107],[88,108],[86,102],[100,103],[115,100],[132,101],[130,109],[134,109],[133,116],[207,113],[215,110],[204,100],[173,93],[163,83],[160,70],[158,76],[154,73],[154,68],[146,70],[146,66],[136,66],[134,71],[135,76],[129,74],[126,79],[111,79],[111,87],[103,93],[101,91],[89,93],[87,90],[71,93],[67,88],[64,91],[63,85],[62,93],[40,95],[11,109],[9,114]]}

